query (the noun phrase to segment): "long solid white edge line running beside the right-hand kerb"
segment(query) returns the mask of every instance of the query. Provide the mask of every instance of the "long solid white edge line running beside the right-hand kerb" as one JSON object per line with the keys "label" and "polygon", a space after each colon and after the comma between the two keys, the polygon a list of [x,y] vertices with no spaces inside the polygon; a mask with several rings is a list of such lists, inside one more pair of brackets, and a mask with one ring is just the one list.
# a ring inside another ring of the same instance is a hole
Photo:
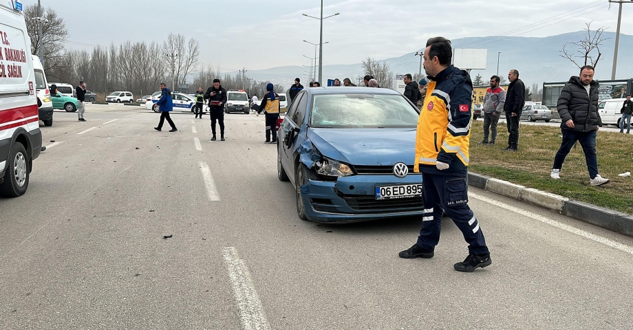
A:
{"label": "long solid white edge line running beside the right-hand kerb", "polygon": [[579,236],[582,236],[586,239],[590,239],[594,242],[597,243],[601,243],[607,246],[610,246],[611,248],[620,250],[622,252],[626,252],[628,254],[633,254],[633,247],[629,246],[629,245],[625,245],[623,243],[617,242],[617,241],[613,241],[612,239],[608,239],[606,237],[603,236],[599,236],[597,234],[592,234],[590,232],[586,232],[585,230],[580,230],[578,228],[572,227],[571,225],[567,225],[565,223],[560,223],[558,221],[552,220],[552,219],[548,219],[547,217],[543,217],[542,215],[527,211],[527,210],[522,210],[521,208],[517,208],[515,206],[511,206],[508,205],[506,203],[502,203],[500,201],[495,201],[494,199],[490,199],[488,197],[484,197],[482,195],[478,195],[478,194],[473,194],[472,192],[469,192],[468,194],[470,197],[473,197],[475,199],[479,199],[480,201],[485,201],[486,203],[491,203],[494,206],[498,206],[500,208],[505,208],[506,210],[511,210],[512,212],[521,214],[525,217],[531,218],[531,219],[535,219],[536,221],[541,221],[542,223],[546,223],[548,225],[552,225],[556,228],[565,230],[566,232],[570,232],[572,234],[577,234]]}

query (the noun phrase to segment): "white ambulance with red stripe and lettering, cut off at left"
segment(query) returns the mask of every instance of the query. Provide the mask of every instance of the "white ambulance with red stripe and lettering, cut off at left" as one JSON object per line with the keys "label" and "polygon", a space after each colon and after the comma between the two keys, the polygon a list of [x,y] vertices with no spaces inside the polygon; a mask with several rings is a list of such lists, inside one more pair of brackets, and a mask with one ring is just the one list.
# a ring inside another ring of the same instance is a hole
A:
{"label": "white ambulance with red stripe and lettering, cut off at left", "polygon": [[33,160],[42,148],[38,105],[45,100],[38,102],[30,50],[21,3],[3,1],[0,3],[0,197],[24,195]]}

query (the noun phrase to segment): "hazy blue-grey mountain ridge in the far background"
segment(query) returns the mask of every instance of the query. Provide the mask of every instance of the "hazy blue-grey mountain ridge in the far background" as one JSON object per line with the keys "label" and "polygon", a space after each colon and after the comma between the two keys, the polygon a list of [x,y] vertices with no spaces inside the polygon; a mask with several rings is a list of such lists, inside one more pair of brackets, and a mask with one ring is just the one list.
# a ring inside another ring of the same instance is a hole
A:
{"label": "hazy blue-grey mountain ridge in the far background", "polygon": [[[473,70],[471,72],[473,78],[477,74],[481,74],[485,81],[493,74],[497,74],[497,52],[501,52],[499,75],[507,76],[510,69],[517,69],[520,78],[526,83],[526,87],[530,87],[532,83],[542,85],[543,82],[566,81],[570,76],[577,75],[578,68],[568,59],[562,58],[559,51],[565,43],[581,41],[586,33],[586,31],[570,32],[544,38],[520,36],[463,38],[453,40],[453,47],[486,48],[488,50],[487,69]],[[604,32],[603,37],[610,39],[600,47],[602,56],[597,65],[596,78],[609,80],[611,78],[615,32]],[[422,50],[423,48],[418,51]],[[568,47],[568,50],[573,50],[573,48]],[[411,52],[400,57],[387,58],[384,61],[391,66],[391,70],[395,74],[416,74],[420,67],[420,58],[414,54],[415,52]],[[633,57],[631,54],[633,54],[633,36],[620,34],[616,78],[633,78]],[[371,56],[371,54],[367,55]],[[363,55],[363,58],[367,55]],[[301,66],[273,67],[263,70],[249,70],[248,75],[255,80],[270,80],[272,83],[281,84],[287,88],[292,85],[297,76],[301,78],[302,83],[307,80],[304,71],[305,67]],[[327,78],[354,80],[362,74],[361,63],[323,66],[323,80]],[[358,80],[354,81],[358,83]],[[307,86],[308,84],[303,85]]]}

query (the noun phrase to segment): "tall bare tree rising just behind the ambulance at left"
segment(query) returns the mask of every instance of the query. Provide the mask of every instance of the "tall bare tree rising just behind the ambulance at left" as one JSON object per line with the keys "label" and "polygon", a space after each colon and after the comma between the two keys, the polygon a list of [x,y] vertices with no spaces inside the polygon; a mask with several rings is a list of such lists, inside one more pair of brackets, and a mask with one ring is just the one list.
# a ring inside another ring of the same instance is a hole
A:
{"label": "tall bare tree rising just behind the ambulance at left", "polygon": [[39,39],[38,22],[34,21],[35,17],[40,17],[37,5],[28,5],[24,9],[24,21],[26,22],[26,30],[31,39],[32,54],[39,55],[39,49],[44,44],[44,71],[57,69],[63,63],[64,44],[68,37],[66,23],[64,19],[57,16],[52,8],[42,8],[42,18],[46,19],[42,23],[42,40]]}

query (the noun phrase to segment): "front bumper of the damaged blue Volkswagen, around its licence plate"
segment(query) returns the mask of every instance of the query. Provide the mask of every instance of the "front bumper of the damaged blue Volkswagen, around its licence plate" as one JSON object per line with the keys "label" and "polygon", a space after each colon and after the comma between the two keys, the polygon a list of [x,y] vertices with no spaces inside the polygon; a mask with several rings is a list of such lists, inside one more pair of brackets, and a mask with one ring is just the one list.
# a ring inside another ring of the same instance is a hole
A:
{"label": "front bumper of the damaged blue Volkswagen, around its licence plate", "polygon": [[310,221],[350,223],[374,219],[421,216],[422,197],[376,200],[376,186],[420,184],[422,175],[352,175],[336,181],[309,180],[301,186],[305,215]]}

